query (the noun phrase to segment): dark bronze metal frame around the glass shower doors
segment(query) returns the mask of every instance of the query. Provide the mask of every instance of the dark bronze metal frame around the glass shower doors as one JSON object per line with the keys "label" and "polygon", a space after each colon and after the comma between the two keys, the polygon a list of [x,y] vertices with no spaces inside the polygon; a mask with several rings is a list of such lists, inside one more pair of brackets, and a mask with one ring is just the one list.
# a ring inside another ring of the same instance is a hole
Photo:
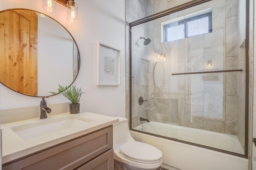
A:
{"label": "dark bronze metal frame around the glass shower doors", "polygon": [[189,7],[192,7],[192,6],[196,6],[196,5],[199,5],[199,4],[202,4],[204,2],[208,2],[208,1],[211,1],[211,0],[192,0],[190,2],[186,2],[184,4],[181,4],[181,5],[178,5],[178,6],[175,6],[173,8],[170,8],[168,10],[164,10],[162,12],[158,12],[156,14],[153,14],[153,15],[150,15],[150,16],[147,16],[145,18],[142,18],[140,20],[136,20],[136,21],[133,21],[131,23],[129,23],[129,31],[130,31],[130,36],[129,36],[129,47],[130,47],[130,51],[129,51],[129,81],[130,81],[130,87],[129,87],[129,109],[130,109],[130,114],[129,114],[129,119],[130,119],[130,125],[129,125],[129,129],[132,130],[132,131],[136,131],[136,132],[139,132],[139,133],[145,133],[145,134],[148,134],[148,135],[152,135],[152,136],[156,136],[156,137],[161,137],[161,138],[164,138],[164,139],[169,139],[169,140],[172,140],[172,141],[177,141],[177,142],[180,142],[180,143],[185,143],[185,144],[188,144],[188,145],[193,145],[193,146],[196,146],[196,147],[202,147],[202,148],[205,148],[205,149],[210,149],[210,150],[215,150],[215,151],[218,151],[218,152],[222,152],[222,153],[226,153],[226,154],[231,154],[231,155],[234,155],[234,156],[239,156],[239,157],[242,157],[242,158],[248,158],[248,119],[249,119],[249,0],[245,0],[246,1],[246,50],[245,50],[245,58],[246,58],[246,64],[245,64],[245,131],[244,131],[244,154],[239,154],[239,153],[235,153],[235,152],[230,152],[230,151],[227,151],[227,150],[222,150],[222,149],[217,149],[217,148],[213,148],[213,147],[208,147],[208,146],[205,146],[205,145],[200,145],[200,144],[196,144],[196,143],[191,143],[191,142],[188,142],[188,141],[182,141],[182,140],[179,140],[179,139],[175,139],[175,138],[170,138],[170,137],[164,137],[164,136],[161,136],[161,135],[156,135],[156,134],[153,134],[153,133],[147,133],[147,132],[143,132],[143,131],[138,131],[136,129],[132,129],[132,27],[133,26],[136,26],[136,25],[139,25],[141,23],[145,23],[145,22],[148,22],[148,21],[152,21],[152,20],[155,20],[157,18],[161,18],[163,16],[167,16],[173,12],[178,12],[180,10],[184,10],[186,8],[189,8]]}

